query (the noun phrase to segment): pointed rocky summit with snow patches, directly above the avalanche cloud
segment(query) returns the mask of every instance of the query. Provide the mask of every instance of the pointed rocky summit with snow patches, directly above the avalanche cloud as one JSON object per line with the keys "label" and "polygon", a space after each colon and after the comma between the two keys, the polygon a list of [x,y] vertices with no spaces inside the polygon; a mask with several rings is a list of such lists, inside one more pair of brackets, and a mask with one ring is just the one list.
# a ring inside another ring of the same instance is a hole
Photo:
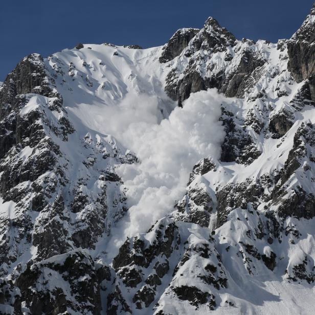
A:
{"label": "pointed rocky summit with snow patches, directly above the avalanche cloud", "polygon": [[[182,50],[171,64],[165,88],[179,105],[190,93],[212,87],[228,97],[243,96],[257,81],[266,61],[253,41],[237,41],[212,17]],[[215,61],[218,56],[220,64]]]}

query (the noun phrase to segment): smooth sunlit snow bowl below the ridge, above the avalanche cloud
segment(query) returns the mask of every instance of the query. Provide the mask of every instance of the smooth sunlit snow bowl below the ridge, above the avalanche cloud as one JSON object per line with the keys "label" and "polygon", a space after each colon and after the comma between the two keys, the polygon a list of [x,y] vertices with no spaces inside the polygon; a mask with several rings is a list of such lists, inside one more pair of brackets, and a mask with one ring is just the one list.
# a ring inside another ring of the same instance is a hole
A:
{"label": "smooth sunlit snow bowl below the ridge, above the avalanche cloud", "polygon": [[[90,114],[86,110],[88,105],[98,105],[101,109],[110,105],[120,105],[125,110],[131,111],[127,111],[126,118],[132,114],[132,111],[134,116],[134,111],[138,110],[134,98],[144,96],[152,98],[150,102],[147,101],[150,106],[148,114],[156,116],[155,120],[161,121],[163,117],[169,115],[174,104],[164,93],[165,70],[159,66],[160,54],[161,48],[140,50],[110,44],[86,44],[80,50],[64,50],[56,53],[45,62],[48,70],[56,76],[56,83],[59,85],[66,108],[75,111],[75,115],[79,118],[82,118],[80,116],[82,112],[85,115]],[[128,99],[122,103],[127,96]],[[91,99],[93,99],[92,104]],[[140,106],[145,106],[142,104],[145,102],[144,99],[140,102]],[[95,107],[95,111],[90,115],[91,119],[100,114],[96,111],[98,107]],[[159,114],[158,109],[162,113]],[[146,118],[143,117],[143,120],[145,121]],[[101,119],[93,121],[93,126],[98,131],[106,129]],[[86,120],[87,125],[91,123],[88,116]],[[128,124],[128,121],[123,122]],[[112,125],[114,129],[109,131],[115,131],[114,123]],[[108,129],[106,131],[108,132]]]}

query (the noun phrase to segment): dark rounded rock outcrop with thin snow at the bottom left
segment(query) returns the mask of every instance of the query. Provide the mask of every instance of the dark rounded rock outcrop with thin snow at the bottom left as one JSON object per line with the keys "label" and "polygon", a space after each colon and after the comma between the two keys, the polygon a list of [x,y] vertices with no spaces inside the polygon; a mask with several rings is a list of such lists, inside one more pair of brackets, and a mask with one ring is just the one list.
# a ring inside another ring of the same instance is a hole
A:
{"label": "dark rounded rock outcrop with thin snow at the bottom left", "polygon": [[[60,262],[43,261],[27,266],[25,272],[15,281],[21,292],[21,304],[35,315],[57,314],[66,311],[67,308],[82,314],[88,312],[99,314],[100,287],[92,258],[80,251],[65,255]],[[68,282],[69,289],[67,285],[54,286],[52,283],[55,277],[58,277],[60,283]],[[50,283],[55,287],[52,291]],[[35,290],[37,286],[41,289]],[[75,296],[75,299],[67,300],[69,295]],[[43,299],[45,303],[42,303]],[[22,307],[21,304],[19,307]]]}

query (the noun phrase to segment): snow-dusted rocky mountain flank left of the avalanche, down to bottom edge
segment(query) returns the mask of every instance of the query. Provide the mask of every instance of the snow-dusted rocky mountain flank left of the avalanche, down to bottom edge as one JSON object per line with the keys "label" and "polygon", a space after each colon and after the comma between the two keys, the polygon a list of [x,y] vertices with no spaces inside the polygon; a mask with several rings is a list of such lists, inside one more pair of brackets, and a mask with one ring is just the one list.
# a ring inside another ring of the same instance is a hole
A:
{"label": "snow-dusted rocky mountain flank left of the avalanche, down to bottom edge", "polygon": [[[0,194],[5,205],[0,216],[0,274],[11,279],[2,279],[1,304],[7,305],[7,313],[100,313],[107,267],[96,267],[82,248],[94,249],[98,238],[127,211],[113,166],[136,163],[137,158],[122,153],[115,141],[87,133],[80,140],[83,159],[73,174],[66,147],[76,130],[56,89],[60,73],[33,54],[0,87]],[[95,166],[98,161],[100,168]],[[87,181],[92,188],[86,188]],[[32,249],[34,255],[25,261]],[[59,266],[59,259],[65,259],[64,265]]]}

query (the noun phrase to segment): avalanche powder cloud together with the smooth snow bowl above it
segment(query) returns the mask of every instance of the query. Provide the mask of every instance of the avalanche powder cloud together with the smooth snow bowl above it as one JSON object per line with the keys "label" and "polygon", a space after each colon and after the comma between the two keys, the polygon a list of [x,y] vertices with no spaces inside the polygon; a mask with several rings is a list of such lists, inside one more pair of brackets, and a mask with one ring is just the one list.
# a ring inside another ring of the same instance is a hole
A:
{"label": "avalanche powder cloud together with the smooth snow bowl above it", "polygon": [[[140,160],[116,168],[127,188],[129,208],[113,233],[114,242],[109,242],[119,248],[126,236],[147,231],[172,211],[175,200],[185,192],[196,161],[209,154],[219,158],[225,134],[219,122],[220,106],[233,100],[215,90],[202,91],[181,109],[164,92],[165,67],[158,60],[161,48],[85,47],[75,53],[57,53],[47,63],[52,68],[59,65],[60,72],[68,70],[64,64],[75,69],[72,80],[57,77],[56,82],[59,79],[58,90],[79,137],[87,130],[111,134],[123,150],[135,152]],[[95,83],[86,84],[87,78]],[[117,249],[109,252],[116,255]]]}

